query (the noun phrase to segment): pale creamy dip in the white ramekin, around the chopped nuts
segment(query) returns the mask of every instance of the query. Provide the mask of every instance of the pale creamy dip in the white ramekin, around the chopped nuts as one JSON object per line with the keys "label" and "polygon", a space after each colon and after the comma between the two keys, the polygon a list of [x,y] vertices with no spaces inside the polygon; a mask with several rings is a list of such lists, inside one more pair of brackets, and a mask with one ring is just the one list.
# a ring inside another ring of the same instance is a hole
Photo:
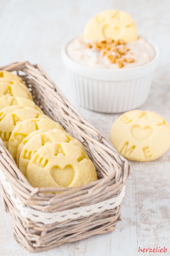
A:
{"label": "pale creamy dip in the white ramekin, around the chopped nuts", "polygon": [[[91,40],[85,40],[82,37],[75,38],[67,46],[67,54],[74,61],[92,68],[102,69],[119,69],[116,63],[111,63],[107,55],[103,56],[101,51],[95,48],[87,48],[87,44],[94,44]],[[121,46],[120,46],[121,47]],[[133,58],[133,63],[124,62],[122,69],[130,69],[133,67],[142,66],[151,61],[155,56],[154,47],[143,37],[139,37],[133,42],[126,43],[126,47],[129,51],[123,58]],[[112,53],[114,56],[114,52]]]}

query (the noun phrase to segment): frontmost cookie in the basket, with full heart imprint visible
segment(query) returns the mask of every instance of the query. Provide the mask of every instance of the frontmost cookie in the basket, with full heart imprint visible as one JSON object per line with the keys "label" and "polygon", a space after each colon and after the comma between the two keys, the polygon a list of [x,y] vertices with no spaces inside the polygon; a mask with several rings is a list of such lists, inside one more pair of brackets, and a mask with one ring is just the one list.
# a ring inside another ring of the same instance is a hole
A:
{"label": "frontmost cookie in the basket, with full heart imprint visible", "polygon": [[97,180],[92,161],[70,143],[49,143],[29,161],[26,178],[33,187],[78,187]]}

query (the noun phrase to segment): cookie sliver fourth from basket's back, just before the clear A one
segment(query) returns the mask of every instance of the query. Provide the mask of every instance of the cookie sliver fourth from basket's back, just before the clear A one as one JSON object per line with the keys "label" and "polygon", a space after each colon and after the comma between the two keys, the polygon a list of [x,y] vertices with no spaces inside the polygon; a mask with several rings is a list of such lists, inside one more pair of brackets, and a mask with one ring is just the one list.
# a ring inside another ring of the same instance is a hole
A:
{"label": "cookie sliver fourth from basket's back, just before the clear A one", "polygon": [[[12,106],[12,105],[19,105],[21,107],[31,107],[35,108],[36,110],[42,112],[41,108],[39,108],[35,103],[27,98],[23,97],[13,97],[13,96],[3,96],[0,98],[0,110],[2,108]],[[43,113],[43,112],[42,112]]]}

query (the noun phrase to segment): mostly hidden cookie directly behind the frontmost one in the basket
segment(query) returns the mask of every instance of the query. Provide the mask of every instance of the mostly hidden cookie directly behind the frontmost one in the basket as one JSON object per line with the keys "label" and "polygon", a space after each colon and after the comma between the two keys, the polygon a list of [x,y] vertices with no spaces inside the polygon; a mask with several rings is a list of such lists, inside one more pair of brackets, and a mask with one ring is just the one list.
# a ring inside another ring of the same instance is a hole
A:
{"label": "mostly hidden cookie directly behind the frontmost one in the basket", "polygon": [[22,150],[21,153],[19,152],[19,150],[17,151],[17,157],[19,157],[19,165],[17,165],[20,168],[20,171],[24,174],[24,176],[26,176],[27,166],[33,154],[35,154],[35,152],[37,152],[39,148],[46,145],[47,143],[56,142],[66,142],[71,145],[79,146],[88,158],[88,154],[82,143],[75,140],[69,133],[61,131],[59,129],[49,130],[44,133],[34,135],[31,139],[27,141],[27,143],[25,143],[22,149],[20,148]]}

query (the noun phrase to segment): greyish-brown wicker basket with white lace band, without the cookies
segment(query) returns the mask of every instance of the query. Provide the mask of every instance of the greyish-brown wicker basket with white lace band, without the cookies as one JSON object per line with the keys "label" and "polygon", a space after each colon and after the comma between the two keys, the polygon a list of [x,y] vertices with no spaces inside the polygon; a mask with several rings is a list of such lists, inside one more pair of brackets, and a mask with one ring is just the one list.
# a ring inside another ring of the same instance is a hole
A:
{"label": "greyish-brown wicker basket with white lace band, without the cookies", "polygon": [[[14,238],[30,252],[113,231],[132,172],[128,161],[68,102],[39,65],[12,63],[44,113],[84,144],[97,170],[97,181],[74,188],[33,188],[0,140],[0,191],[12,216]],[[43,193],[62,191],[62,193]]]}

